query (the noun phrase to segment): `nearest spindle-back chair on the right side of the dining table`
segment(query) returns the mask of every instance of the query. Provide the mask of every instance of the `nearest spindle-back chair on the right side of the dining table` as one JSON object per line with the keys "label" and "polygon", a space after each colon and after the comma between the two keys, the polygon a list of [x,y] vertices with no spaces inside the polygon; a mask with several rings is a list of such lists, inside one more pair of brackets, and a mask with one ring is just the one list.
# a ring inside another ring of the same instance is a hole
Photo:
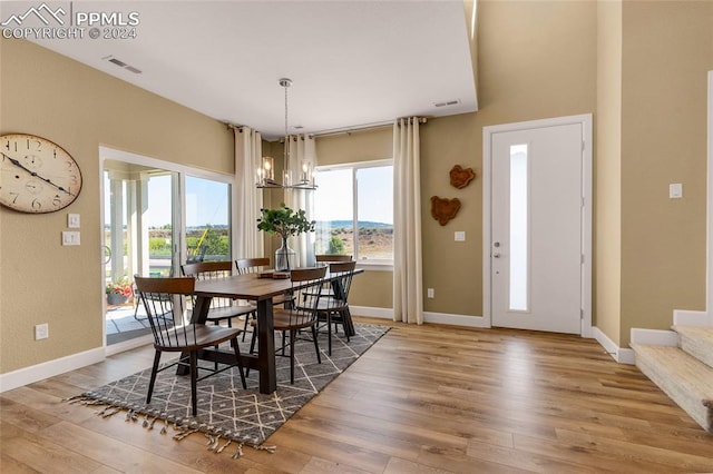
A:
{"label": "nearest spindle-back chair on the right side of the dining table", "polygon": [[[290,271],[291,295],[294,297],[294,304],[285,305],[284,308],[275,308],[273,310],[273,326],[275,332],[282,332],[282,345],[277,348],[280,355],[285,355],[285,349],[290,348],[290,384],[294,385],[294,344],[297,334],[302,329],[310,329],[316,353],[318,363],[322,364],[320,356],[320,345],[318,342],[316,324],[318,324],[318,305],[320,302],[320,292],[315,292],[324,282],[326,267],[314,268],[295,268]],[[251,322],[255,326],[253,328],[253,337],[250,343],[250,353],[255,352],[255,340],[257,339],[257,322]],[[289,342],[285,340],[289,334]],[[258,348],[260,350],[260,348]]]}

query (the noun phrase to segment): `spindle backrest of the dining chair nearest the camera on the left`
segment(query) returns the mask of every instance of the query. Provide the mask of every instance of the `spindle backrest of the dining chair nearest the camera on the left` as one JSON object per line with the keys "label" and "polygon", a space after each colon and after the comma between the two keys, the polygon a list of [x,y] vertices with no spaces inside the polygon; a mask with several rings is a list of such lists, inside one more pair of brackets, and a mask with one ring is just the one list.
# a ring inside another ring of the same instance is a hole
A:
{"label": "spindle backrest of the dining chair nearest the camera on the left", "polygon": [[134,278],[154,335],[155,346],[185,347],[196,343],[195,325],[184,324],[185,302],[195,290],[195,279]]}

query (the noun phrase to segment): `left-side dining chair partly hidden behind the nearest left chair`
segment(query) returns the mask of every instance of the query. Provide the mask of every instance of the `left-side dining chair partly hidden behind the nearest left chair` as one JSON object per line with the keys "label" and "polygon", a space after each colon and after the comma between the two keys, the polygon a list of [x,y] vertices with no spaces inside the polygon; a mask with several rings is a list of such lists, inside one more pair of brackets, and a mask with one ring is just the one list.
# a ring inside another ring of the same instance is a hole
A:
{"label": "left-side dining chair partly hidden behind the nearest left chair", "polygon": [[[193,264],[184,264],[180,266],[184,276],[192,276],[197,280],[226,278],[233,274],[233,263],[223,261],[196,261]],[[233,327],[233,318],[244,316],[245,320],[251,315],[254,316],[255,306],[237,305],[231,298],[213,298],[211,308],[208,309],[207,320],[219,325],[222,320],[227,320],[227,326]]]}

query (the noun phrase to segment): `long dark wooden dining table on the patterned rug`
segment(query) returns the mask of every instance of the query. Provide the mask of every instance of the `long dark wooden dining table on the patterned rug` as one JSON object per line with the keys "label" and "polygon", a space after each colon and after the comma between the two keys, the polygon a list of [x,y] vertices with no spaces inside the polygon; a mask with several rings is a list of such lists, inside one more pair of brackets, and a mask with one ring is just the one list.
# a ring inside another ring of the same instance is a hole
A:
{"label": "long dark wooden dining table on the patterned rug", "polygon": [[[355,269],[354,274],[363,273],[363,269]],[[338,284],[339,275],[330,274],[324,276],[324,282]],[[241,354],[244,367],[256,369],[260,373],[260,393],[271,394],[277,389],[277,376],[275,368],[275,329],[273,322],[273,298],[285,295],[293,289],[290,278],[261,278],[260,274],[233,275],[225,278],[197,280],[195,285],[195,305],[191,323],[205,324],[211,300],[214,297],[228,297],[233,299],[245,299],[256,306],[257,326],[257,354]],[[351,322],[344,327],[350,327]],[[205,361],[222,364],[233,364],[235,353],[219,349],[203,349],[198,357]],[[178,374],[185,372],[179,366]]]}

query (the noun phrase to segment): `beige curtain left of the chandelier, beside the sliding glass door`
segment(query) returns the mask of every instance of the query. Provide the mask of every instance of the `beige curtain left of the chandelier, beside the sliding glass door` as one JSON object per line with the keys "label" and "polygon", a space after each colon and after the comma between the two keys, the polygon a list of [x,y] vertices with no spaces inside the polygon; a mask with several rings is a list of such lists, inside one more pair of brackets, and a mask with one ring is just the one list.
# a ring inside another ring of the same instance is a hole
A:
{"label": "beige curtain left of the chandelier, beside the sliding glass door", "polygon": [[235,132],[235,203],[236,238],[233,255],[236,258],[262,257],[265,253],[263,235],[257,230],[257,218],[263,207],[262,189],[255,187],[262,160],[262,137],[250,127],[234,128]]}

